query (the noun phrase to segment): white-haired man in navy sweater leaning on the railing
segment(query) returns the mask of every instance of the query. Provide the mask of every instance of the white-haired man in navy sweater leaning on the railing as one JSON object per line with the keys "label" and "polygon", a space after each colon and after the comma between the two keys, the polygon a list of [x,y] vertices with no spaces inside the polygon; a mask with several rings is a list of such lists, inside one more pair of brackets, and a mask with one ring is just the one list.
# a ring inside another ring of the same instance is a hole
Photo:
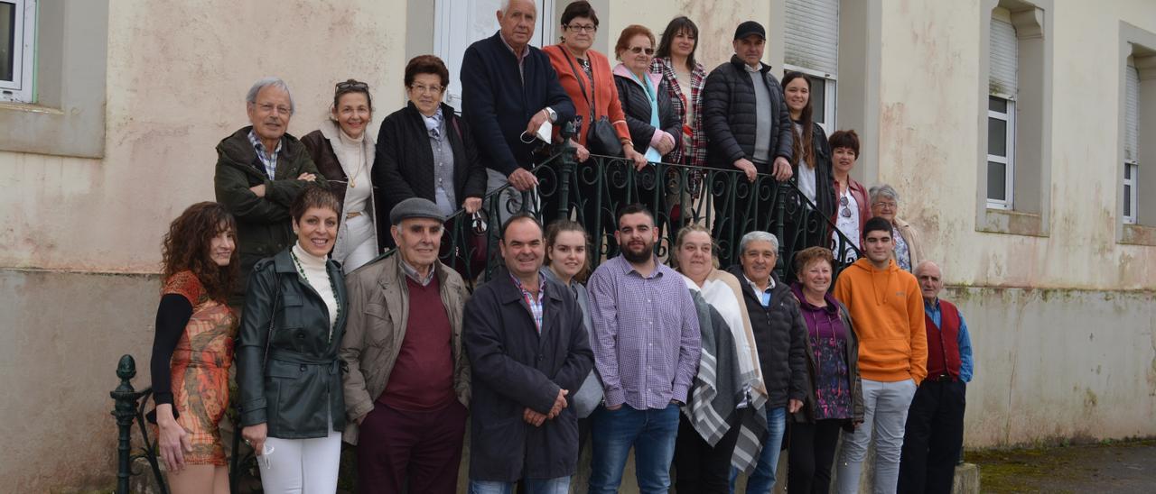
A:
{"label": "white-haired man in navy sweater leaning on the railing", "polygon": [[461,106],[486,162],[487,193],[512,185],[499,204],[506,216],[506,201],[520,207],[518,193],[538,185],[529,172],[533,136],[547,121],[572,120],[575,105],[550,59],[529,46],[538,17],[534,2],[506,0],[497,17],[502,29],[469,45],[461,59]]}

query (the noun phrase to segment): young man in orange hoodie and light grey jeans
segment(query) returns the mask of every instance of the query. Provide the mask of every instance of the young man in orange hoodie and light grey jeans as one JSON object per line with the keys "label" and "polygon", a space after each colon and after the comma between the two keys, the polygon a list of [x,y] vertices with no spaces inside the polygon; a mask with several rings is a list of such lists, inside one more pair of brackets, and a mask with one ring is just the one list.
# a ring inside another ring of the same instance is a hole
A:
{"label": "young man in orange hoodie and light grey jeans", "polygon": [[894,493],[899,479],[907,407],[927,375],[927,334],[919,283],[891,260],[891,224],[870,218],[864,225],[865,259],[835,283],[835,298],[847,306],[859,335],[864,424],[844,434],[839,454],[840,494],[859,489],[859,474],[875,435],[876,493]]}

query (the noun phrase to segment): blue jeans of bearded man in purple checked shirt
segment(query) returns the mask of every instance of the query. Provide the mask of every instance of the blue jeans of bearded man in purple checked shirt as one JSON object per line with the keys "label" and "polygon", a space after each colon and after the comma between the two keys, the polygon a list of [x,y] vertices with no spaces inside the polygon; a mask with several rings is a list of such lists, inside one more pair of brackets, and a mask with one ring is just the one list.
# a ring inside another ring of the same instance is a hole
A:
{"label": "blue jeans of bearded man in purple checked shirt", "polygon": [[642,494],[666,493],[670,489],[670,461],[679,435],[679,406],[635,410],[598,407],[591,416],[590,494],[614,494],[622,485],[630,448],[635,448],[635,471]]}

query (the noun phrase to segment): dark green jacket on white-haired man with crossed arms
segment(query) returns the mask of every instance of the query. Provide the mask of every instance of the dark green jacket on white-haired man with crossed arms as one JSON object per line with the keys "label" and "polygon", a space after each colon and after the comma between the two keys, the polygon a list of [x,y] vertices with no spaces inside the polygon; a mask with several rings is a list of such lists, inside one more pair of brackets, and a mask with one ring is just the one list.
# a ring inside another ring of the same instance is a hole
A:
{"label": "dark green jacket on white-haired man with crossed arms", "polygon": [[[243,275],[247,275],[257,261],[281,252],[296,240],[289,205],[309,184],[297,180],[297,177],[309,172],[317,175],[318,185],[327,185],[305,147],[289,134],[281,137],[277,170],[274,179],[269,180],[265,165],[249,142],[252,128],[244,127],[217,144],[216,175],[213,178],[216,201],[237,218],[237,248],[240,250]],[[258,197],[249,189],[259,185],[265,185],[265,197]],[[245,293],[244,278],[236,293]]]}

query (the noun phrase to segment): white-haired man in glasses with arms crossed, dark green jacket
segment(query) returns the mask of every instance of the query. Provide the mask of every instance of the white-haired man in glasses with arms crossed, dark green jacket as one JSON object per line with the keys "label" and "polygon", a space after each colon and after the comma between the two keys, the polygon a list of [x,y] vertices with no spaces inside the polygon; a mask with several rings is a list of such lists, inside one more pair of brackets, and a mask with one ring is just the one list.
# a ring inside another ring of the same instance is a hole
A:
{"label": "white-haired man in glasses with arms crossed, dark green jacket", "polygon": [[230,305],[239,307],[253,264],[292,244],[289,204],[309,182],[326,186],[305,147],[286,133],[292,117],[289,87],[277,77],[257,81],[245,95],[251,125],[217,144],[216,201],[237,219],[242,283]]}

